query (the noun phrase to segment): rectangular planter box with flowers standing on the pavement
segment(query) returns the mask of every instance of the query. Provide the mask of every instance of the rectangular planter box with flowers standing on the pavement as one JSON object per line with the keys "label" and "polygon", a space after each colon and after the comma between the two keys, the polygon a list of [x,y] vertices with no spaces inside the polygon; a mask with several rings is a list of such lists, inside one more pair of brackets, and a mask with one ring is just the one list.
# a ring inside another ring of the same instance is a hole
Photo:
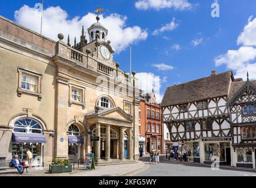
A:
{"label": "rectangular planter box with flowers standing on the pavement", "polygon": [[54,158],[52,160],[52,164],[50,165],[50,173],[63,173],[63,172],[72,172],[72,165],[69,164],[69,160]]}

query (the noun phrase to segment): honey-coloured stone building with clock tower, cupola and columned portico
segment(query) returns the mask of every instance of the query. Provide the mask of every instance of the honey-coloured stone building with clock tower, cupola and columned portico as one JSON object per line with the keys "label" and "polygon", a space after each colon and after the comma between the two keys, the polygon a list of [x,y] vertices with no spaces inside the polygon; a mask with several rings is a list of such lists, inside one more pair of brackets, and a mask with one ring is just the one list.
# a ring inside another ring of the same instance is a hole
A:
{"label": "honey-coloured stone building with clock tower, cupola and columned portico", "polygon": [[34,166],[91,150],[98,163],[138,159],[135,72],[118,68],[98,16],[88,33],[71,46],[0,16],[0,157],[25,160],[30,149]]}

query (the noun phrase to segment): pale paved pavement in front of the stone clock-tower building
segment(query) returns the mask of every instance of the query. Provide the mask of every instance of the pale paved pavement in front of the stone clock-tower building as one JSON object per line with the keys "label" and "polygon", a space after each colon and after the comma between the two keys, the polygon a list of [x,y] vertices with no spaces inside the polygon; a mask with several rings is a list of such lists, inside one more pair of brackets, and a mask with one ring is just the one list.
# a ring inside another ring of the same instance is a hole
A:
{"label": "pale paved pavement in front of the stone clock-tower building", "polygon": [[0,170],[0,176],[132,176],[149,166],[141,161],[131,164],[116,164],[111,166],[96,166],[96,170],[75,169],[72,173],[50,174],[48,169],[28,169],[23,174],[19,174],[16,169]]}

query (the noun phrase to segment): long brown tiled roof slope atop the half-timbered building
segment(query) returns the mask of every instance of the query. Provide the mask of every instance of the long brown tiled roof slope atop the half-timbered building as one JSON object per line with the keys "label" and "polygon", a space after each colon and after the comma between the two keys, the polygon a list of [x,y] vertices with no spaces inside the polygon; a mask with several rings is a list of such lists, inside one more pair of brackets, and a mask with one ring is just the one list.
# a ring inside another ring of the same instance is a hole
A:
{"label": "long brown tiled roof slope atop the half-timbered building", "polygon": [[228,71],[170,86],[165,90],[161,106],[178,105],[218,96],[227,96],[231,79],[234,81],[232,71]]}

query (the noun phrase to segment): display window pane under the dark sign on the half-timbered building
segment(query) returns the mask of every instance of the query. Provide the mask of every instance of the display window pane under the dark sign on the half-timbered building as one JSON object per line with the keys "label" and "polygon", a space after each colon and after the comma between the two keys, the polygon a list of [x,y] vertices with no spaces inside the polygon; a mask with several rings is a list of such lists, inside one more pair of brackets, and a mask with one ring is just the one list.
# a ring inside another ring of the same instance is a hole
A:
{"label": "display window pane under the dark sign on the half-timbered building", "polygon": [[225,161],[225,143],[205,143],[205,160]]}

